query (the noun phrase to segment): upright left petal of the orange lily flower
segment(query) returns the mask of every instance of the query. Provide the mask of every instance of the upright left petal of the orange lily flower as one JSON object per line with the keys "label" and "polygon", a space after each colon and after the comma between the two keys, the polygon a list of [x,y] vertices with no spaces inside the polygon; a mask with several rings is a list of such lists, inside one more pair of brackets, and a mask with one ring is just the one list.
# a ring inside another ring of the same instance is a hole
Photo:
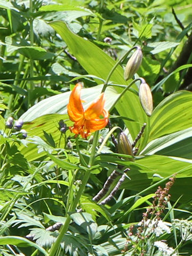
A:
{"label": "upright left petal of the orange lily flower", "polygon": [[71,121],[77,122],[84,115],[84,109],[81,101],[81,84],[76,84],[69,97],[67,105],[68,115]]}

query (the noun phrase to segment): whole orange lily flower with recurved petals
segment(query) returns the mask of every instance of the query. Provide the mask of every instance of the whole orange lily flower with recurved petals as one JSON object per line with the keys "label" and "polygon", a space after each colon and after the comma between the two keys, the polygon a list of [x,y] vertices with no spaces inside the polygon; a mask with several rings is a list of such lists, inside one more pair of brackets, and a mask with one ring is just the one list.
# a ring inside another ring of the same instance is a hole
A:
{"label": "whole orange lily flower with recurved petals", "polygon": [[84,110],[81,100],[82,85],[76,84],[69,97],[67,105],[69,119],[74,123],[69,127],[70,131],[80,134],[82,138],[87,138],[91,132],[105,127],[108,123],[109,113],[104,108],[104,93],[101,93],[91,105]]}

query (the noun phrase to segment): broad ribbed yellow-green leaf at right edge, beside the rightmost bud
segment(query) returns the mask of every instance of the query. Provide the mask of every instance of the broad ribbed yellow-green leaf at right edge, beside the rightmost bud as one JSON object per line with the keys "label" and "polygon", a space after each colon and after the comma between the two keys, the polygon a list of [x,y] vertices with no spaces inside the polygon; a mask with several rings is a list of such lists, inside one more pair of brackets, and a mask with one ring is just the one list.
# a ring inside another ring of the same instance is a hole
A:
{"label": "broad ribbed yellow-green leaf at right edge, beside the rightmost bud", "polygon": [[191,127],[192,93],[178,91],[164,99],[151,116],[149,141]]}

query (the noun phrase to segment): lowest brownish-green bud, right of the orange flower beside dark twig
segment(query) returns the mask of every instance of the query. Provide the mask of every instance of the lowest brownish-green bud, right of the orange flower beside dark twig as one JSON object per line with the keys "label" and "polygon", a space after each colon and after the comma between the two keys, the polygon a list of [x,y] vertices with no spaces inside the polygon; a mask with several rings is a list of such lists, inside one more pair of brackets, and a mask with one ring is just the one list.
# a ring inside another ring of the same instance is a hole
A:
{"label": "lowest brownish-green bud, right of the orange flower beside dark twig", "polygon": [[[133,156],[133,149],[131,146],[131,142],[127,138],[127,135],[124,132],[118,134],[118,143],[117,143],[118,153],[131,155]],[[130,161],[134,161],[133,158],[126,158]]]}

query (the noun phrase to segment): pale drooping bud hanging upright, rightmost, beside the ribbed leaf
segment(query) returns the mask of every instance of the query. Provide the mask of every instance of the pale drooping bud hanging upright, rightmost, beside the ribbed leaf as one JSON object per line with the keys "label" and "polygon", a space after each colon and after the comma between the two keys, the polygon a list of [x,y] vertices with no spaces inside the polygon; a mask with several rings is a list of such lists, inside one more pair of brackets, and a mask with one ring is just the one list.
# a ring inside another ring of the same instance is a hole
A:
{"label": "pale drooping bud hanging upright, rightmost, beside the ribbed leaf", "polygon": [[139,87],[139,99],[144,109],[145,113],[148,116],[151,116],[153,112],[153,97],[150,90],[150,87],[147,83],[141,83]]}

